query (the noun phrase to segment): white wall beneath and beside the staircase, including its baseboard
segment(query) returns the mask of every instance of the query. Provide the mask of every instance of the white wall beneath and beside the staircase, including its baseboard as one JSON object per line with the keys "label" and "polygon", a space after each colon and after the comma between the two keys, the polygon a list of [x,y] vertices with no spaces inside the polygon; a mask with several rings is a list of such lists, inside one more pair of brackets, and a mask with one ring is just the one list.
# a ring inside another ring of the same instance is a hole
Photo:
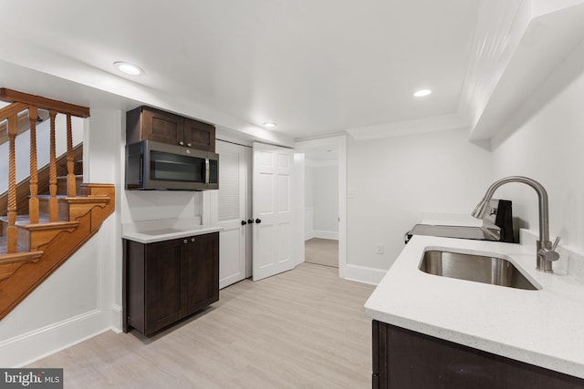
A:
{"label": "white wall beneath and beside the staircase, including its baseboard", "polygon": [[[86,180],[116,183],[121,113],[91,109],[85,121]],[[110,328],[120,328],[121,241],[117,214],[0,321],[0,366],[20,366]]]}

